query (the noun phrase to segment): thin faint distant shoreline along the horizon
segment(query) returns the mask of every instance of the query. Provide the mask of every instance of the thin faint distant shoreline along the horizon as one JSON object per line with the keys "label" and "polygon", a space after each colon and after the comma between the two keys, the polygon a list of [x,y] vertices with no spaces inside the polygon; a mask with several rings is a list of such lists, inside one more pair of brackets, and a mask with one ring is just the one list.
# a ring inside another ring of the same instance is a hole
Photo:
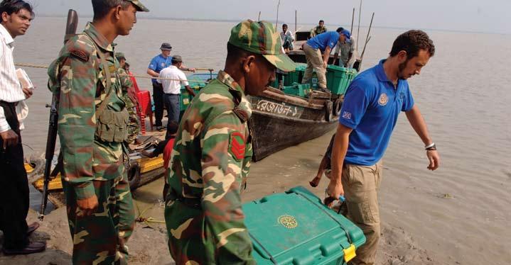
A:
{"label": "thin faint distant shoreline along the horizon", "polygon": [[[57,16],[57,15],[40,15],[38,17],[41,18],[64,18],[64,16]],[[90,18],[92,19],[92,16],[79,16],[80,18]],[[139,16],[139,19],[147,19],[147,20],[154,20],[154,21],[210,21],[210,22],[233,22],[237,23],[242,20],[240,19],[215,19],[215,18],[165,18],[165,17],[149,17],[149,16]],[[287,23],[288,25],[294,24],[294,23]],[[316,25],[316,23],[298,23],[298,25]],[[327,27],[336,27],[336,26],[344,26],[348,27],[348,25],[339,25],[339,24],[325,24]],[[354,25],[355,27],[355,25]],[[369,25],[360,25],[360,28],[369,28]],[[392,30],[409,30],[411,28],[404,28],[404,27],[395,27],[395,26],[372,26],[372,28],[384,28],[384,29],[392,29]],[[476,34],[489,34],[489,35],[511,35],[511,33],[499,33],[499,32],[485,32],[485,31],[475,31],[475,30],[453,30],[448,28],[419,28],[421,30],[435,30],[435,31],[441,31],[441,32],[452,32],[452,33],[476,33]]]}

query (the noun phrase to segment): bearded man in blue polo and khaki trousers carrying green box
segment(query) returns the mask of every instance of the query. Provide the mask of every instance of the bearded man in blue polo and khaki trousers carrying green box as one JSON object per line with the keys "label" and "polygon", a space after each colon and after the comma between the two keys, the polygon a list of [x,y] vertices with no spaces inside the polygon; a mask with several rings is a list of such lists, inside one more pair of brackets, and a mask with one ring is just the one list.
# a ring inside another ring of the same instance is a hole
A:
{"label": "bearded man in blue polo and khaki trousers carrying green box", "polygon": [[429,170],[440,166],[439,153],[428,133],[407,79],[420,74],[435,54],[421,30],[409,30],[394,40],[389,57],[355,77],[348,87],[333,144],[331,198],[346,198],[348,218],[366,237],[352,264],[375,264],[380,239],[377,192],[382,181],[382,157],[400,112],[424,142]]}

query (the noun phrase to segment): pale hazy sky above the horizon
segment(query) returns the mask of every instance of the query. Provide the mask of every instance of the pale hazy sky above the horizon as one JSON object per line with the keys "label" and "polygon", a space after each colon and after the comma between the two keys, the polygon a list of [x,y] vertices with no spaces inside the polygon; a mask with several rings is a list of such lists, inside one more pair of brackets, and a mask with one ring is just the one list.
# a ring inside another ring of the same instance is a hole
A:
{"label": "pale hazy sky above the horizon", "polygon": [[[91,16],[90,0],[28,0],[40,15],[64,16],[72,8],[80,16]],[[142,0],[151,10],[139,17],[199,18],[241,20],[261,18],[275,21],[278,0]],[[359,0],[281,0],[279,21],[294,24],[317,23],[322,18],[327,24],[349,25],[353,8]],[[511,0],[364,0],[362,25],[369,25],[375,12],[374,26],[479,31],[511,34],[507,13]],[[357,24],[355,15],[355,25]],[[280,24],[281,22],[279,22]],[[294,27],[291,27],[293,29]]]}

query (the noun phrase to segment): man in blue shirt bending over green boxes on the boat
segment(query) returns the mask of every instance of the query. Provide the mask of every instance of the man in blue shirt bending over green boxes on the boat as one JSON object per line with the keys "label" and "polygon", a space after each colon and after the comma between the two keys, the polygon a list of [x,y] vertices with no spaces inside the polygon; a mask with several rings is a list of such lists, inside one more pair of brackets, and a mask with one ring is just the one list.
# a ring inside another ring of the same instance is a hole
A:
{"label": "man in blue shirt bending over green boxes on the boat", "polygon": [[315,70],[318,76],[318,89],[328,91],[326,89],[326,66],[328,64],[328,57],[330,57],[330,51],[340,40],[339,33],[341,30],[343,28],[338,28],[336,32],[327,31],[326,33],[321,33],[307,40],[303,45],[303,52],[307,60],[307,68],[301,81],[303,84],[311,81],[312,72]]}

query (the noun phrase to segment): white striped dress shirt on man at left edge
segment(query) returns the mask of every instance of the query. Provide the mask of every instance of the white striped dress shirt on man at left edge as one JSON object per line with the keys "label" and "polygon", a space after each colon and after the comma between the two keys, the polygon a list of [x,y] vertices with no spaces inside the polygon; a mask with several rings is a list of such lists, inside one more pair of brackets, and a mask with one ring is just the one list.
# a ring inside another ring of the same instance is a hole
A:
{"label": "white striped dress shirt on man at left edge", "polygon": [[[18,102],[25,99],[14,67],[13,50],[14,39],[0,24],[0,101]],[[10,129],[4,108],[0,108],[0,133]]]}

